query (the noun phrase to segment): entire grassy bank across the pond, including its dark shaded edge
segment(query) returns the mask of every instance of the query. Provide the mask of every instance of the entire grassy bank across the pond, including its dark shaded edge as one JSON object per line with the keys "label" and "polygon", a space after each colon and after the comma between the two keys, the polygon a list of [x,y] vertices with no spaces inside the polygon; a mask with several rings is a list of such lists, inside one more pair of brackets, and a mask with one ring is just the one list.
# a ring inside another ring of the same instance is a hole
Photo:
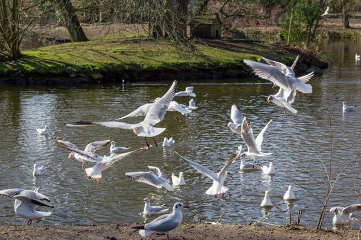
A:
{"label": "entire grassy bank across the pond, including its dark shaded edge", "polygon": [[[242,40],[204,40],[187,47],[176,47],[165,40],[91,40],[23,51],[21,60],[0,62],[0,80],[239,77],[250,75],[250,69],[243,64],[245,58],[260,60],[260,56],[267,56],[290,64],[295,54]],[[311,67],[312,62],[307,64]]]}

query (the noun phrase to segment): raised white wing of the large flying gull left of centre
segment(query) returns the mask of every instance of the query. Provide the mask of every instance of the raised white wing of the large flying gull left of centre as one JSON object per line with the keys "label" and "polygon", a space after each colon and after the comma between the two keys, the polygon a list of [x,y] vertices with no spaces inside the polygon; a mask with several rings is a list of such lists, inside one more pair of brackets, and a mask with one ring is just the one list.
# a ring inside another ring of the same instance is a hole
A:
{"label": "raised white wing of the large flying gull left of centre", "polygon": [[169,104],[171,103],[174,95],[175,95],[175,88],[177,87],[177,81],[175,80],[168,89],[166,94],[163,95],[158,101],[153,103],[151,109],[146,114],[144,121],[142,123],[146,123],[149,125],[155,125],[163,120],[164,115],[166,114],[166,110],[168,109]]}

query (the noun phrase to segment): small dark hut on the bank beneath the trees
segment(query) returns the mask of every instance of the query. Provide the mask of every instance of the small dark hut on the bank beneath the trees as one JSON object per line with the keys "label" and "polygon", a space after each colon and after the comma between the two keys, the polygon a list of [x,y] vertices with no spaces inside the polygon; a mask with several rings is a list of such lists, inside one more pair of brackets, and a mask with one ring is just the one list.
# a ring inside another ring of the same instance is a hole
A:
{"label": "small dark hut on the bank beneath the trees", "polygon": [[197,38],[221,38],[221,19],[217,14],[193,16],[190,19],[190,36]]}

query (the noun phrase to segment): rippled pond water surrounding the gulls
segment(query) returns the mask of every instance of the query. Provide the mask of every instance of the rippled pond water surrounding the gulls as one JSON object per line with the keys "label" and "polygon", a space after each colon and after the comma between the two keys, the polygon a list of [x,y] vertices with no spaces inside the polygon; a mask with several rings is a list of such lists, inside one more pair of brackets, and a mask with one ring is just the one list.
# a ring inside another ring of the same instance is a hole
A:
{"label": "rippled pond water surrounding the gulls", "polygon": [[[262,149],[272,152],[261,160],[271,160],[276,175],[263,176],[261,171],[242,173],[239,160],[230,167],[234,179],[228,179],[230,191],[226,197],[212,197],[205,192],[212,181],[201,176],[173,152],[153,147],[115,163],[103,173],[100,184],[85,178],[81,163],[67,159],[67,150],[56,144],[66,139],[80,148],[91,141],[111,139],[117,145],[133,149],[144,145],[144,139],[129,130],[110,128],[68,128],[65,123],[80,119],[107,121],[122,117],[136,107],[163,95],[166,84],[136,84],[131,86],[1,86],[0,88],[0,189],[41,187],[51,198],[54,214],[34,224],[102,224],[144,221],[142,199],[149,197],[152,204],[173,206],[185,202],[184,221],[218,221],[223,224],[248,224],[267,221],[286,224],[288,209],[296,219],[303,209],[302,224],[315,226],[327,189],[324,167],[318,158],[329,163],[331,119],[333,134],[333,174],[355,160],[360,153],[361,108],[342,114],[342,101],[361,104],[361,64],[355,64],[355,53],[360,45],[329,43],[325,50],[332,63],[322,77],[311,80],[314,92],[296,99],[297,115],[289,113],[285,119],[281,108],[266,105],[267,96],[276,93],[268,82],[260,80],[217,80],[179,82],[179,90],[194,86],[199,106],[183,121],[175,121],[167,113],[159,123],[166,131],[157,136],[173,136],[179,154],[219,171],[224,160],[243,144],[240,136],[230,132],[230,107],[237,104],[249,117],[254,133],[273,119],[264,135]],[[188,103],[188,98],[175,99]],[[138,122],[140,119],[127,119]],[[36,127],[49,125],[50,136],[39,136]],[[100,151],[109,154],[109,148]],[[360,202],[355,193],[360,187],[360,159],[351,163],[346,174],[336,184],[329,206],[347,206]],[[45,165],[45,176],[32,177],[34,163]],[[149,185],[133,182],[124,173],[147,171],[147,165],[161,167],[168,177],[184,171],[186,186],[165,192]],[[336,178],[333,175],[331,178]],[[318,184],[320,182],[321,184]],[[294,185],[298,201],[291,205],[283,201],[289,184]],[[274,208],[265,211],[260,204],[264,191],[269,190]],[[318,198],[318,200],[317,200]],[[329,209],[329,208],[328,208]],[[332,215],[325,217],[324,226],[331,226]],[[45,209],[48,211],[49,209]],[[152,218],[151,218],[152,219]],[[147,221],[151,220],[148,219]],[[25,219],[14,215],[13,200],[0,199],[0,224],[25,224]]]}

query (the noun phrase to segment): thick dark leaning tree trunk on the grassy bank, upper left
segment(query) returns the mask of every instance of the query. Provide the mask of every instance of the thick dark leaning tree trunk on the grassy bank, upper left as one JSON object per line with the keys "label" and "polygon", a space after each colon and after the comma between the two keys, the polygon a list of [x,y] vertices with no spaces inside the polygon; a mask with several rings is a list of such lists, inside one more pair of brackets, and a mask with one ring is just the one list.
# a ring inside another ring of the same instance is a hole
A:
{"label": "thick dark leaning tree trunk on the grassy bank, upper left", "polygon": [[54,0],[56,8],[60,12],[65,22],[65,27],[69,32],[72,42],[84,42],[88,38],[85,36],[83,28],[80,26],[75,8],[70,0]]}

